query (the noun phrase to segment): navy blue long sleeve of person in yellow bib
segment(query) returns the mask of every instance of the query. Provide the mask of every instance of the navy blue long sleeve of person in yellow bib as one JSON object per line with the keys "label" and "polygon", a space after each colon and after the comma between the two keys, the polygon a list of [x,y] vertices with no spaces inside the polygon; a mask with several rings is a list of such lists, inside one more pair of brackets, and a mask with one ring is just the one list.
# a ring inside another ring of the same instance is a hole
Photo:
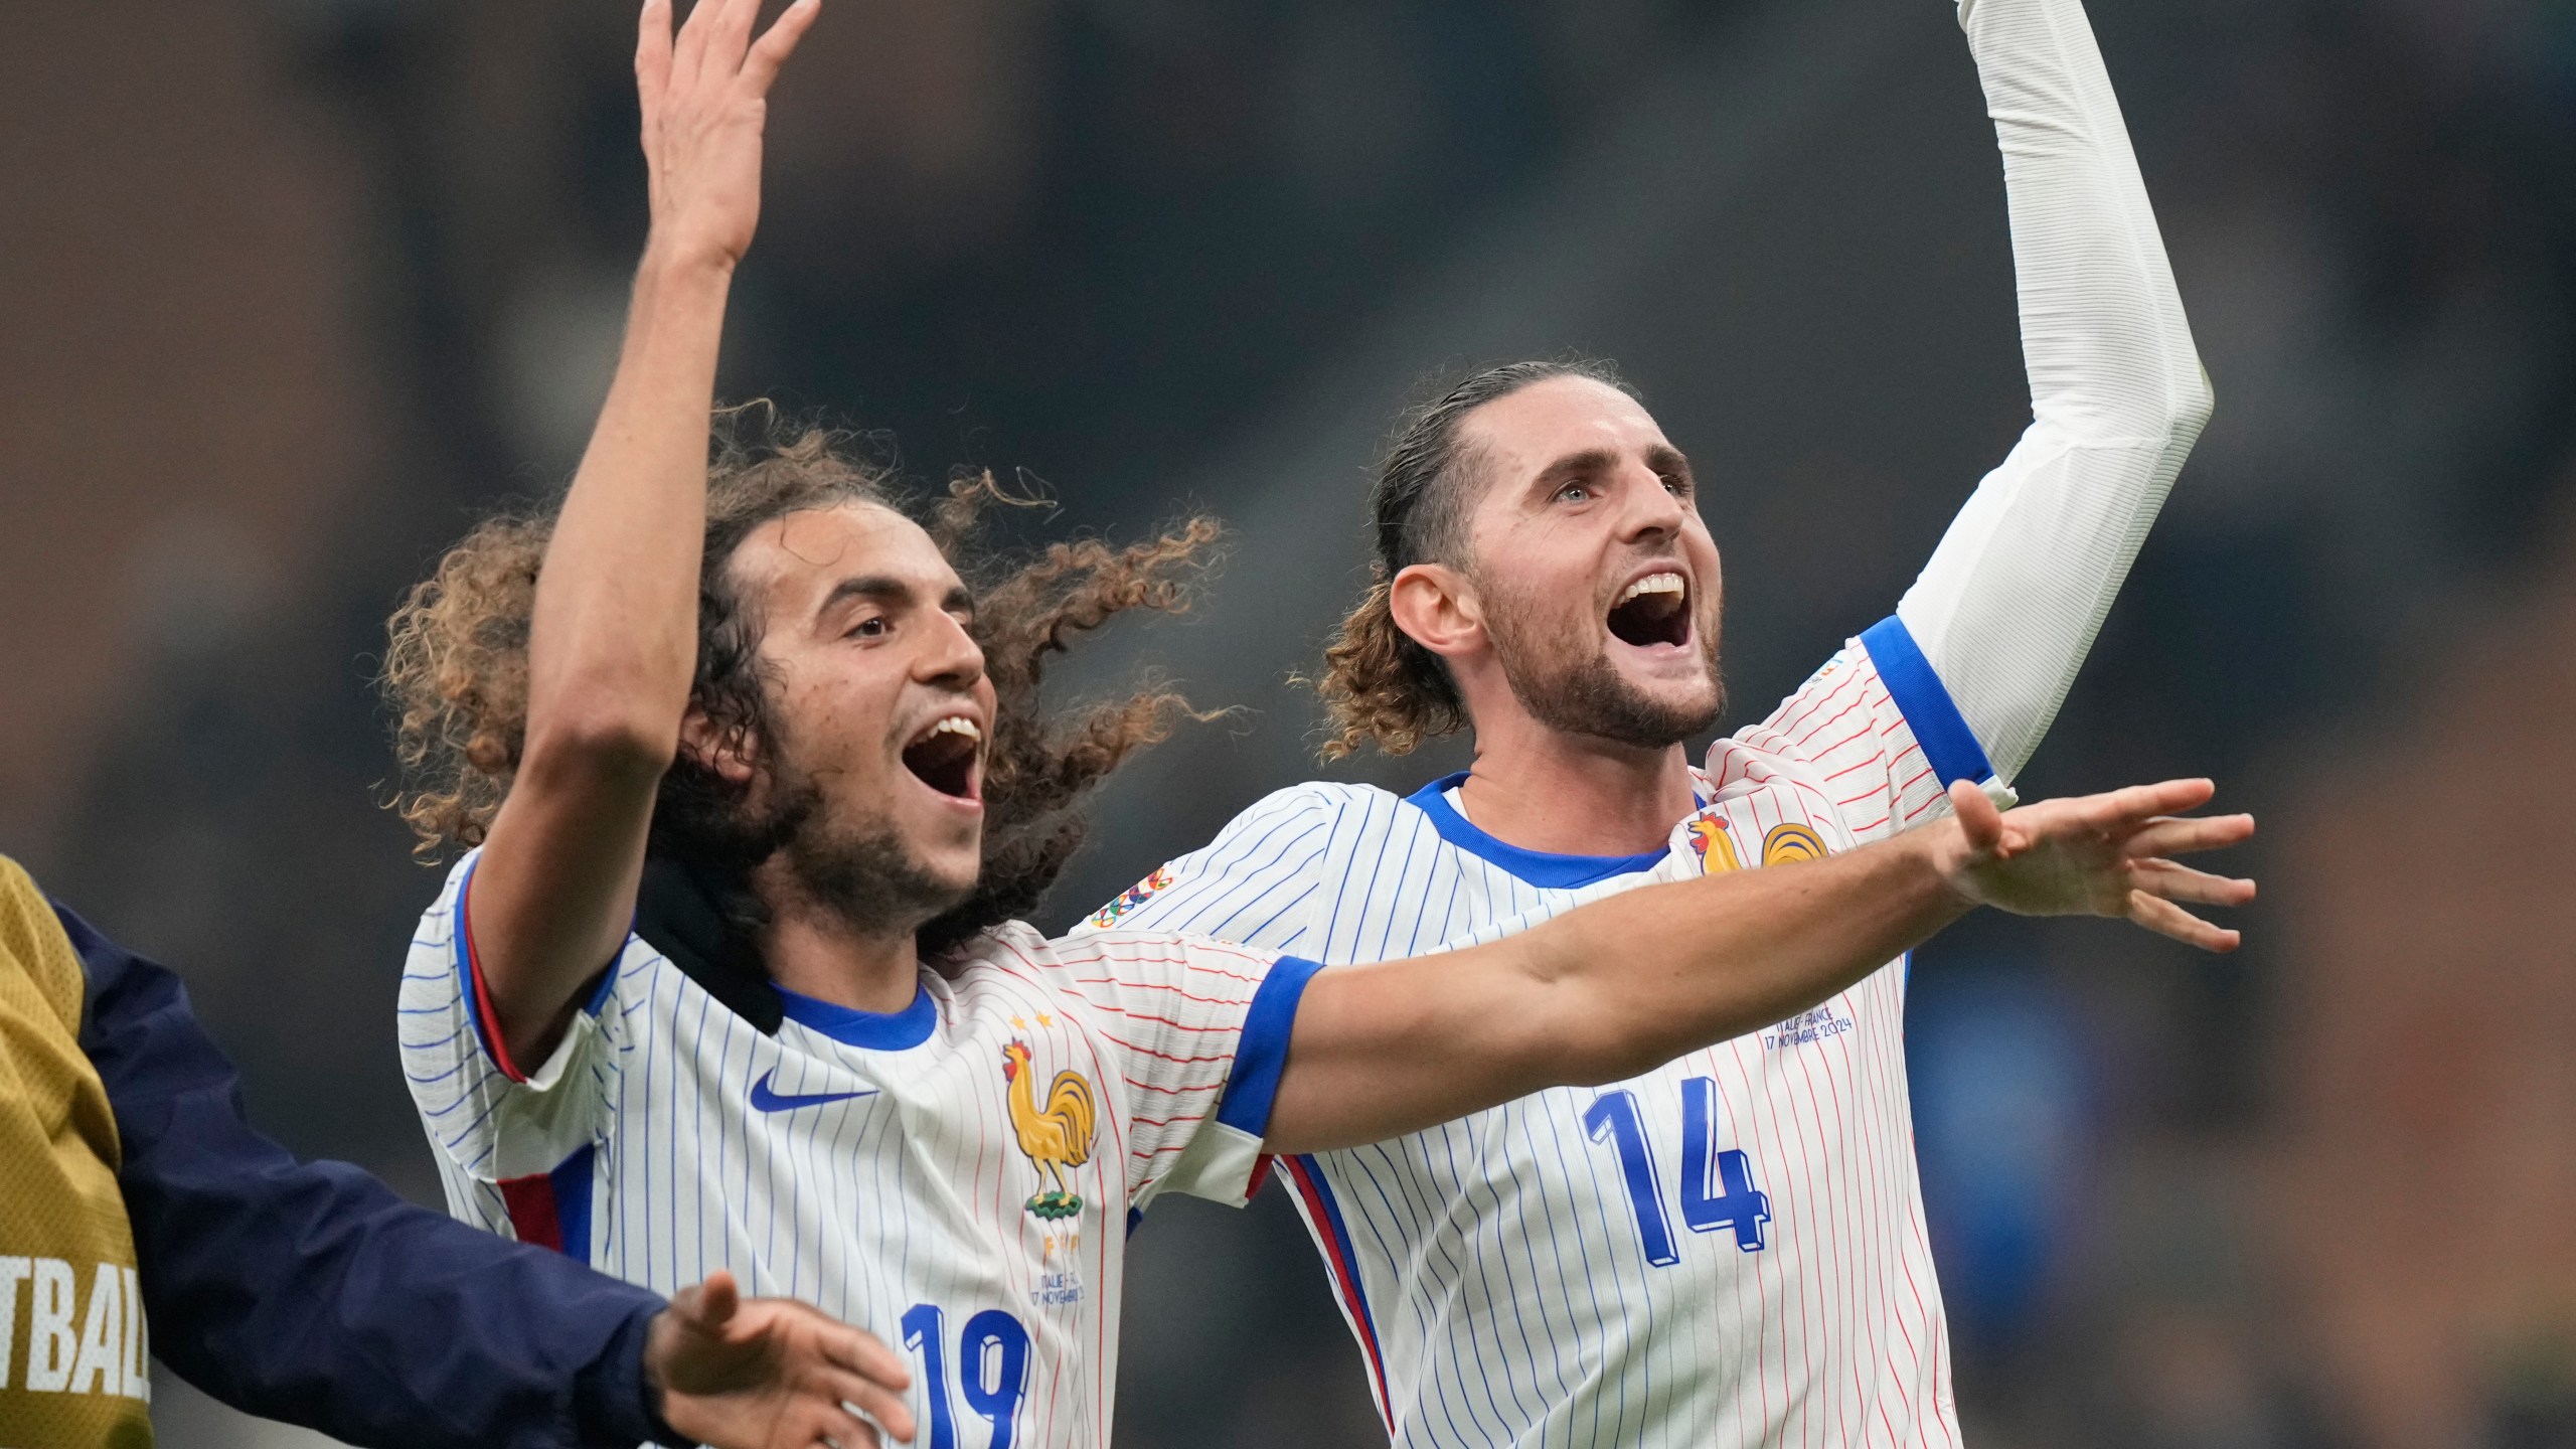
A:
{"label": "navy blue long sleeve of person in yellow bib", "polygon": [[152,1354],[263,1418],[361,1446],[675,1441],[647,1403],[647,1289],[412,1207],[250,1129],[167,969],[62,915],[80,1047],[124,1145]]}

